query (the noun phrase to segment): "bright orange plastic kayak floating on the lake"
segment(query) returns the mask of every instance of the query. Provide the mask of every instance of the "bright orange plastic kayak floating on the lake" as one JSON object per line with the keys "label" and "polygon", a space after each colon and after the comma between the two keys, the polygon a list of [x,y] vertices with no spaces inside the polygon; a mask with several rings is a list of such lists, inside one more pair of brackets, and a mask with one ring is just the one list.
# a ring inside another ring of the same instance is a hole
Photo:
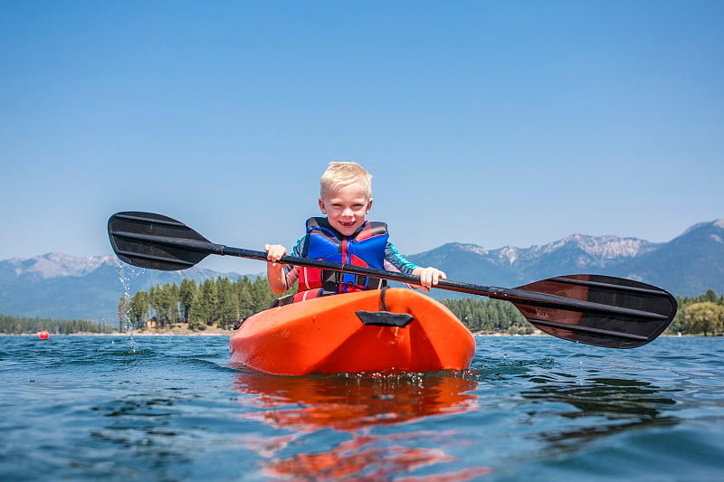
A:
{"label": "bright orange plastic kayak floating on the lake", "polygon": [[231,364],[253,372],[434,372],[470,367],[475,340],[442,303],[407,288],[271,307],[243,320]]}

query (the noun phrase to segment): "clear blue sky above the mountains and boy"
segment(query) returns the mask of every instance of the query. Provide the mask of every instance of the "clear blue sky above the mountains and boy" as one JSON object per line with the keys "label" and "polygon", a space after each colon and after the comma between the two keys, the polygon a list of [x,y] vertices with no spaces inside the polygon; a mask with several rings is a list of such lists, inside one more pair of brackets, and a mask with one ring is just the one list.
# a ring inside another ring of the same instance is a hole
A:
{"label": "clear blue sky above the mountains and boy", "polygon": [[724,2],[0,1],[0,260],[291,248],[338,160],[405,254],[671,241],[724,218]]}

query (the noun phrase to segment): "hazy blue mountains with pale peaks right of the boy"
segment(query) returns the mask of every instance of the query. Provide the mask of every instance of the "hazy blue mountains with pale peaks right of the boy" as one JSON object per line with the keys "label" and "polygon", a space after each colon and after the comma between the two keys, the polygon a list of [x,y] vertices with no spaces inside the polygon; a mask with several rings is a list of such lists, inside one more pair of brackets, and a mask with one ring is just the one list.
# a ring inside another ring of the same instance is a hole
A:
{"label": "hazy blue mountains with pale peaks right of the boy", "polygon": [[[724,292],[724,220],[702,222],[664,243],[574,234],[542,246],[486,250],[452,242],[407,257],[443,269],[448,279],[506,288],[576,273],[638,279],[675,295]],[[455,294],[433,292],[435,298]]]}

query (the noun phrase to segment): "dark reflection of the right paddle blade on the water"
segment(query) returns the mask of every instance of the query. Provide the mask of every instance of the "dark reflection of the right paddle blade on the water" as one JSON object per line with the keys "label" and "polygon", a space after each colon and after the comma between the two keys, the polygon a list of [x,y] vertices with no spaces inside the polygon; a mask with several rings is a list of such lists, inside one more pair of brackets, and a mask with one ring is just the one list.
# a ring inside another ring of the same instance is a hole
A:
{"label": "dark reflection of the right paddle blade on the water", "polygon": [[[561,381],[555,375],[530,381],[538,386],[521,394],[539,408],[529,415],[549,420],[551,411],[556,411],[564,419],[559,419],[556,430],[541,433],[555,449],[576,449],[582,441],[626,430],[672,426],[679,421],[668,413],[676,402],[652,383],[620,378]],[[557,402],[566,403],[568,408],[552,405]],[[569,410],[571,407],[576,410]]]}

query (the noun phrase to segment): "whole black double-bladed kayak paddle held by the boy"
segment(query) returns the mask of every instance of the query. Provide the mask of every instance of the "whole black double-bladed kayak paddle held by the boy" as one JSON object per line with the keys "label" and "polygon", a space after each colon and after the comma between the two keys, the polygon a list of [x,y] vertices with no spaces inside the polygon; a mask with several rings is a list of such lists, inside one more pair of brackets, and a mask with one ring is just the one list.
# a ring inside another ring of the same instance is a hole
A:
{"label": "whole black double-bladed kayak paddle held by the boy", "polygon": [[[119,258],[142,268],[179,270],[209,254],[266,260],[264,251],[215,244],[183,222],[154,213],[116,213],[108,222]],[[361,276],[419,283],[417,277],[382,269],[285,256],[280,262]],[[645,345],[661,335],[676,314],[676,300],[662,288],[632,279],[571,275],[519,288],[440,281],[435,288],[504,299],[540,330],[565,340],[609,348]]]}

